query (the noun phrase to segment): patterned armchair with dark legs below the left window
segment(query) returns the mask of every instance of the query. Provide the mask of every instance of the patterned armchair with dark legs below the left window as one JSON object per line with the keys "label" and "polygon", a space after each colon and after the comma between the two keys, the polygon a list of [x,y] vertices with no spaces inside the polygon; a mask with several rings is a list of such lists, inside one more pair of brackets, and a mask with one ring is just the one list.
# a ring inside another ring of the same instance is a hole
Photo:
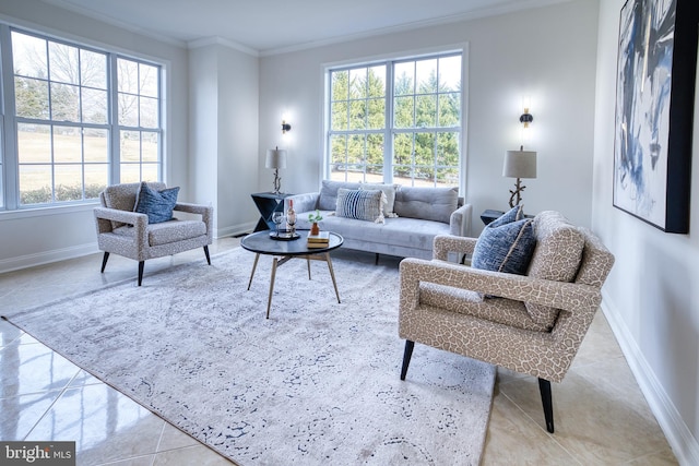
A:
{"label": "patterned armchair with dark legs below the left window", "polygon": [[[147,187],[162,191],[164,183],[150,182]],[[149,215],[133,212],[141,183],[115,184],[100,194],[102,207],[95,207],[97,246],[104,251],[102,273],[110,253],[139,261],[139,286],[147,259],[173,255],[194,248],[204,248],[211,265],[209,244],[213,239],[213,207],[177,202],[175,212],[196,214],[201,218],[177,219],[155,224]],[[189,216],[189,215],[188,215]]]}

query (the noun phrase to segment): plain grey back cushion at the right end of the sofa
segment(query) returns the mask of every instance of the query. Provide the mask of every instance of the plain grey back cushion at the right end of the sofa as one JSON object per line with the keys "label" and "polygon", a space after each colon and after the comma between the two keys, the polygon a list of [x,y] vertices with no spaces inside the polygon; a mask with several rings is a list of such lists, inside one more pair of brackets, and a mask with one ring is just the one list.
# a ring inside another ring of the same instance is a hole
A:
{"label": "plain grey back cushion at the right end of the sofa", "polygon": [[457,188],[408,188],[395,192],[393,211],[399,217],[423,218],[448,224],[459,206]]}

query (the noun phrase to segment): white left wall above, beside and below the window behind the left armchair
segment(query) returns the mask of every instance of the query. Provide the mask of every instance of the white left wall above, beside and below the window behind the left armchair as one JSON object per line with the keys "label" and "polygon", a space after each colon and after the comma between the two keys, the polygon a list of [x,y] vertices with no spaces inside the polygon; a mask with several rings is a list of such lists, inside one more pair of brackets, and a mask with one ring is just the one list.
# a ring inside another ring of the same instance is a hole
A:
{"label": "white left wall above, beside and below the window behind the left armchair", "polygon": [[[165,178],[168,184],[181,187],[180,199],[201,201],[192,196],[188,183],[186,49],[38,0],[2,0],[0,20],[44,34],[164,61],[170,77],[165,95],[167,138],[164,143],[168,153]],[[0,272],[96,251],[92,207],[0,212]]]}

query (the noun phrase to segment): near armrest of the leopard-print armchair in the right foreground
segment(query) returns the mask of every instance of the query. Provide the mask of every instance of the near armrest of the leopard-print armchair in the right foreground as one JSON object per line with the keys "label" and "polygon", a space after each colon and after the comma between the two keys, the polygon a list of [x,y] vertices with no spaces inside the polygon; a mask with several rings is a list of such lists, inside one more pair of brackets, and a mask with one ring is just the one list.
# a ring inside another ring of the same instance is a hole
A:
{"label": "near armrest of the leopard-print armchair in the right foreground", "polygon": [[572,314],[581,309],[596,309],[602,301],[600,289],[593,286],[483,271],[449,262],[410,258],[401,261],[400,271],[401,310],[417,306],[420,282],[549,306]]}

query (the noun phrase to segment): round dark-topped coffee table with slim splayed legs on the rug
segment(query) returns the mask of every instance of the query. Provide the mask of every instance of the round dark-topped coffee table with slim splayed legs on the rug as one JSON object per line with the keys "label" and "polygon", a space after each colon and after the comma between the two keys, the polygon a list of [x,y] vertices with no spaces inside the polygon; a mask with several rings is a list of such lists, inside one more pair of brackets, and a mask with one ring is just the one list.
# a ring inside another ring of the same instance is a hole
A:
{"label": "round dark-topped coffee table with slim splayed legs on the rug", "polygon": [[335,288],[337,302],[340,302],[340,292],[337,291],[335,273],[332,270],[330,251],[340,248],[344,242],[344,239],[342,238],[342,236],[332,231],[330,231],[329,234],[330,240],[328,242],[328,246],[324,246],[322,248],[308,248],[306,242],[306,236],[308,235],[308,231],[299,231],[299,238],[295,240],[274,239],[272,238],[272,236],[270,236],[274,235],[274,232],[270,232],[269,230],[258,231],[242,238],[242,240],[240,241],[240,246],[244,249],[256,253],[254,263],[252,264],[252,272],[250,273],[250,280],[248,282],[248,290],[252,285],[252,277],[254,277],[254,270],[258,266],[260,254],[274,256],[272,260],[272,276],[270,277],[270,296],[266,301],[266,319],[270,319],[270,308],[272,307],[272,292],[274,291],[276,267],[294,258],[306,259],[308,263],[308,279],[310,279],[310,261],[325,261],[325,263],[328,264],[328,270],[330,271],[330,277],[332,278],[332,285]]}

